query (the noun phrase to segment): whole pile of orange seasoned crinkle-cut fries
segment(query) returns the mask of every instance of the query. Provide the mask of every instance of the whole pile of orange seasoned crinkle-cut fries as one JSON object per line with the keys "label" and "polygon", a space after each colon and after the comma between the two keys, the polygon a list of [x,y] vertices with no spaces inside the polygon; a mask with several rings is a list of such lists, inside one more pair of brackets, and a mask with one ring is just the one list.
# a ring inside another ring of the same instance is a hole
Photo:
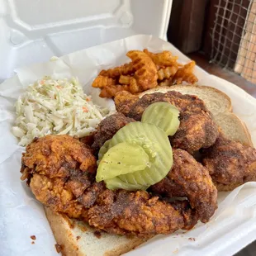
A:
{"label": "whole pile of orange seasoned crinkle-cut fries", "polygon": [[195,62],[183,66],[168,50],[156,54],[147,49],[130,50],[126,55],[131,59],[129,64],[103,69],[93,81],[92,87],[102,89],[100,97],[115,97],[116,92],[121,91],[135,94],[157,86],[197,82],[193,74]]}

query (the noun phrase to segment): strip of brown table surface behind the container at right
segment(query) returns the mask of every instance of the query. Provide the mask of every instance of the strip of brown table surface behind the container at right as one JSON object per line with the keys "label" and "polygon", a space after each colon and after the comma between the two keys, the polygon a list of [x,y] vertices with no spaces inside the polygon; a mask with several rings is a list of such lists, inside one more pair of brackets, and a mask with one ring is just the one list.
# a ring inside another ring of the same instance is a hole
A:
{"label": "strip of brown table surface behind the container at right", "polygon": [[222,69],[216,64],[210,64],[206,57],[200,53],[189,54],[188,57],[190,59],[194,59],[197,65],[202,69],[205,69],[206,72],[214,74],[217,77],[223,78],[231,83],[235,83],[237,86],[239,86],[239,88],[243,88],[244,91],[256,97],[256,84],[248,82],[237,73],[231,72],[227,69]]}

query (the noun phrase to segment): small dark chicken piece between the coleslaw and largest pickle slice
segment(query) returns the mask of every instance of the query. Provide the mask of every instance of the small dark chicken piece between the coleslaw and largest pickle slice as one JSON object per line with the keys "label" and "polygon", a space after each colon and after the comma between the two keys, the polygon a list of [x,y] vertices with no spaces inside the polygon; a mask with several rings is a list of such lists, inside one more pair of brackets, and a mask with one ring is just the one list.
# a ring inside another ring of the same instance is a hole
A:
{"label": "small dark chicken piece between the coleslaw and largest pickle slice", "polygon": [[124,116],[122,113],[116,113],[103,119],[97,126],[97,132],[94,134],[93,152],[97,154],[107,140],[110,140],[118,130],[132,121],[135,120]]}

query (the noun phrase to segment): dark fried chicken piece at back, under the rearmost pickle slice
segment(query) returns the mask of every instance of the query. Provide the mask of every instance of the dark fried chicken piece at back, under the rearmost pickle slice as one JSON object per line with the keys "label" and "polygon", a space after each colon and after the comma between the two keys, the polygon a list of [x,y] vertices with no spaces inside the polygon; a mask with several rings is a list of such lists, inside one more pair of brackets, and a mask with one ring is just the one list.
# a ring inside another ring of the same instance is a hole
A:
{"label": "dark fried chicken piece at back, under the rearmost pickle slice", "polygon": [[180,111],[180,126],[176,134],[170,138],[174,148],[193,153],[215,143],[219,133],[218,127],[204,102],[196,96],[173,91],[154,92],[141,98],[129,92],[119,92],[115,97],[116,110],[135,121],[140,121],[146,107],[154,102],[169,102]]}

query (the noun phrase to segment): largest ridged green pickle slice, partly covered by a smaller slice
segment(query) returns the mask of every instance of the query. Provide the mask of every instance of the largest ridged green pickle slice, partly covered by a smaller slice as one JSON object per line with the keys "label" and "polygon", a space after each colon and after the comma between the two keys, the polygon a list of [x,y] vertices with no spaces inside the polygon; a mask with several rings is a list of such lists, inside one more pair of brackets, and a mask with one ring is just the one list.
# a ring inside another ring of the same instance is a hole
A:
{"label": "largest ridged green pickle slice, partly covered by a smaller slice", "polygon": [[[173,152],[168,136],[157,126],[139,121],[132,122],[118,130],[112,137],[108,143],[109,150],[122,142],[140,145],[148,155],[149,163],[144,169],[136,169],[135,172],[126,174],[119,173],[115,183],[110,182],[111,179],[107,182],[110,187],[123,188],[129,185],[129,190],[140,189],[141,186],[149,187],[162,180],[173,165]],[[118,187],[117,181],[121,187]],[[112,185],[113,183],[115,185]]]}

